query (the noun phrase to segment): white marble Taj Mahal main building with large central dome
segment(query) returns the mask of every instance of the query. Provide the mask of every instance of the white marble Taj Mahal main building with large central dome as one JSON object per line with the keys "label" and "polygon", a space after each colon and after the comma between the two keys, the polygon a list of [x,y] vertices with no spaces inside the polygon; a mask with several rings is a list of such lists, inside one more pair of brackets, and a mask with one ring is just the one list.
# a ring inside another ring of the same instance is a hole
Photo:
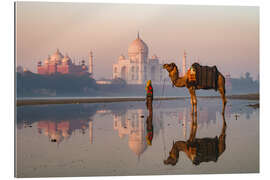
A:
{"label": "white marble Taj Mahal main building with large central dome", "polygon": [[116,64],[113,64],[113,79],[121,78],[127,84],[145,84],[151,80],[153,84],[162,84],[166,76],[162,64],[156,55],[148,57],[148,46],[137,38],[128,47],[128,57],[120,55]]}

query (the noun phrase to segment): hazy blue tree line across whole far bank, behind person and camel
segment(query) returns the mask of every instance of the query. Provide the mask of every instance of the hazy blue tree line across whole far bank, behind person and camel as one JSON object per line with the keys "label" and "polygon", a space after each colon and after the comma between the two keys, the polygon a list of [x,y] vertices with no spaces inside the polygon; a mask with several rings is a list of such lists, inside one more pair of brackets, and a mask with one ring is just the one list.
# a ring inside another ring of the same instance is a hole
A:
{"label": "hazy blue tree line across whole far bank, behind person and camel", "polygon": [[[258,93],[259,81],[254,81],[249,73],[245,77],[232,78],[232,90],[227,94]],[[144,96],[145,85],[127,85],[126,81],[117,78],[111,84],[96,84],[89,74],[53,74],[40,75],[30,71],[17,71],[17,96]],[[164,92],[163,92],[164,89]],[[188,95],[185,88],[172,88],[154,85],[156,96]],[[210,91],[198,91],[199,95],[211,95]]]}

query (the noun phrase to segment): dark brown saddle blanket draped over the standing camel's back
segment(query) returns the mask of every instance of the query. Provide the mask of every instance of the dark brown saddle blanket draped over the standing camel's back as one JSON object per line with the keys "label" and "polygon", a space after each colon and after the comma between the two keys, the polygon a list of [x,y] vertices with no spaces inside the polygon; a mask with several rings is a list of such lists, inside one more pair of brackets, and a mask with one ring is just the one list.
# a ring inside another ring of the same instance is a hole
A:
{"label": "dark brown saddle blanket draped over the standing camel's back", "polygon": [[[196,81],[188,78],[188,86],[195,86],[196,89],[215,89],[217,91],[218,70],[216,66],[201,66],[193,63],[191,66],[196,72]],[[190,74],[190,69],[188,71]]]}

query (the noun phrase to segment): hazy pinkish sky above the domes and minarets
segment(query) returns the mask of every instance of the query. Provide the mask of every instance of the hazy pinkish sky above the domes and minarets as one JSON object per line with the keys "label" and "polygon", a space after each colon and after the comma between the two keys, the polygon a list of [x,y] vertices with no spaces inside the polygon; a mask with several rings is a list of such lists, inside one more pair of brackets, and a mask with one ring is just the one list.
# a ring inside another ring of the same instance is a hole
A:
{"label": "hazy pinkish sky above the domes and minarets", "polygon": [[199,56],[233,77],[259,74],[258,7],[19,2],[16,11],[17,64],[33,72],[57,48],[77,62],[92,50],[95,77],[110,78],[139,31],[163,62],[180,65],[185,49],[189,64]]}

